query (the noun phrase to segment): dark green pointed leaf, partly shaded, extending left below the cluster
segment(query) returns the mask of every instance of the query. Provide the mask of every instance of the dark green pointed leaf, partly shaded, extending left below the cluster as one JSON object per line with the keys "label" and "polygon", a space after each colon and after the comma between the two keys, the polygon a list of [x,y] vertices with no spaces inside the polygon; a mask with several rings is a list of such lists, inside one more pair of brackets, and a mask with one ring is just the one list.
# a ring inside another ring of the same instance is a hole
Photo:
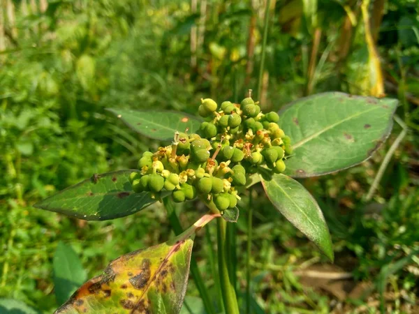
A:
{"label": "dark green pointed leaf, partly shaded, extending left below the cluster", "polygon": [[94,174],[34,207],[84,220],[107,220],[134,214],[156,200],[150,193],[134,193],[128,180],[133,171],[138,170]]}

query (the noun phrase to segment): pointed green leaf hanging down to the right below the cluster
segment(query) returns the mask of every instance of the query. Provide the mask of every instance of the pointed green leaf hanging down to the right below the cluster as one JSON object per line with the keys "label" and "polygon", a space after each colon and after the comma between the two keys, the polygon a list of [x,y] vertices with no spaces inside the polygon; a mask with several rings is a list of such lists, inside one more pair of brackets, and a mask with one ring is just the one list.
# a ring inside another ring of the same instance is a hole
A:
{"label": "pointed green leaf hanging down to the right below the cluster", "polygon": [[262,179],[263,188],[274,207],[298,230],[333,260],[332,239],[328,225],[314,197],[304,186],[284,174]]}

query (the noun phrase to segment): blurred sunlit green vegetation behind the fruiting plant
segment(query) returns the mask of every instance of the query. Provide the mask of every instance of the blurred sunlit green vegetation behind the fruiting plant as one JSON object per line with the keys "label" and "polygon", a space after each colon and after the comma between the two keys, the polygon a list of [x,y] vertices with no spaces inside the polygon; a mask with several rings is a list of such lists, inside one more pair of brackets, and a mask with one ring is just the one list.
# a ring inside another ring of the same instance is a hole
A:
{"label": "blurred sunlit green vegetation behind the fruiting plant", "polygon": [[[60,241],[91,277],[115,257],[172,236],[161,204],[105,222],[31,207],[94,173],[133,168],[142,151],[159,146],[105,107],[194,114],[201,97],[238,101],[253,89],[263,110],[279,110],[338,90],[399,98],[408,133],[372,200],[365,195],[398,124],[362,165],[302,180],[328,221],[335,264],[265,198],[255,202],[254,313],[419,313],[418,0],[0,3],[0,297],[52,313]],[[184,227],[205,211],[197,203],[177,210]],[[246,216],[237,223],[239,270]],[[203,231],[194,248],[211,289],[214,231]],[[245,291],[244,270],[238,286]],[[193,281],[188,294],[198,296]]]}

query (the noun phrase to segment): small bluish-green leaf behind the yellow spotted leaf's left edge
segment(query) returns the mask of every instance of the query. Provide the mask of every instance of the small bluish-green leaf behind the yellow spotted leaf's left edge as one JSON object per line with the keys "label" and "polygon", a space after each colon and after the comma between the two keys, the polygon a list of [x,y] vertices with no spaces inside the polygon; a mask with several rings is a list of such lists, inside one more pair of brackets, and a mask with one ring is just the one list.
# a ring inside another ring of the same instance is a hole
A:
{"label": "small bluish-green leaf behind the yellow spotted leaf's left edge", "polygon": [[52,266],[55,297],[61,305],[87,280],[87,274],[73,248],[63,242],[57,246]]}

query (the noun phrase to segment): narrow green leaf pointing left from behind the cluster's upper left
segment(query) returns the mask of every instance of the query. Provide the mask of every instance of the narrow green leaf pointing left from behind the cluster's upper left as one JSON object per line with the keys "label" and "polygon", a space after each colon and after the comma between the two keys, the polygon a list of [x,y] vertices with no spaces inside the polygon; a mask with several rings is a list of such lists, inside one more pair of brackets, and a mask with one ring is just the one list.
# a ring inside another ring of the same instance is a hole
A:
{"label": "narrow green leaf pointing left from behind the cluster's upper left", "polygon": [[142,135],[155,140],[172,140],[176,131],[193,133],[200,127],[200,119],[182,112],[138,111],[108,108],[124,123]]}

